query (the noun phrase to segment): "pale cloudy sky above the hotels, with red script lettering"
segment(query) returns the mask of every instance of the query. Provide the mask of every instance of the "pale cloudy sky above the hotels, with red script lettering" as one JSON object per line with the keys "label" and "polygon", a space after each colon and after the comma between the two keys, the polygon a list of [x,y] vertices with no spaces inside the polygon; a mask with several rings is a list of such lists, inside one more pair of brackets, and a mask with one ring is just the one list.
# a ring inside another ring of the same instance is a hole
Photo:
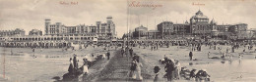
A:
{"label": "pale cloudy sky above the hotels, with red script lettering", "polygon": [[256,28],[255,9],[256,0],[0,0],[0,30],[23,28],[28,34],[35,28],[44,33],[45,19],[69,26],[94,25],[112,16],[121,37],[140,25],[151,30],[161,21],[184,23],[198,10],[218,24],[242,22]]}

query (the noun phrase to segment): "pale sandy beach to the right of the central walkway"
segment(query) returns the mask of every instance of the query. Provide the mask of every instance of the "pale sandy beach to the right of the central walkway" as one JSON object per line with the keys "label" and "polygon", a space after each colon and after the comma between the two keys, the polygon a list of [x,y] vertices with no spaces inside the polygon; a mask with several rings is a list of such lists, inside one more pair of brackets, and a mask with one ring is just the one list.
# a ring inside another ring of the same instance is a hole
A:
{"label": "pale sandy beach to the right of the central walkway", "polygon": [[[227,47],[219,45],[223,51]],[[142,48],[134,48],[136,54],[140,55],[144,60],[145,64],[150,66],[149,70],[151,70],[150,74],[154,76],[153,67],[158,65],[160,66],[160,81],[166,81],[162,76],[164,72],[163,64],[160,64],[159,60],[161,60],[164,55],[169,59],[178,60],[181,63],[181,66],[186,66],[188,69],[207,69],[207,72],[211,75],[211,81],[214,82],[230,82],[230,81],[253,81],[255,80],[253,77],[256,75],[255,66],[251,64],[255,64],[255,55],[254,50],[246,49],[246,52],[242,52],[244,48],[239,48],[235,50],[235,53],[229,53],[228,55],[233,55],[232,60],[225,57],[225,59],[208,59],[208,52],[211,52],[210,58],[219,57],[221,58],[220,50],[214,50],[210,47],[202,46],[202,51],[194,51],[193,59],[197,59],[197,61],[190,61],[188,54],[190,52],[189,47],[185,46],[171,46],[170,48],[160,48],[156,51],[151,51],[150,48],[142,49]],[[222,51],[222,52],[223,52]],[[239,62],[238,55],[242,55],[242,60]],[[242,76],[242,78],[239,78]],[[152,79],[153,80],[153,79]],[[182,82],[187,80],[174,80],[175,82]],[[192,80],[190,80],[192,81]]]}

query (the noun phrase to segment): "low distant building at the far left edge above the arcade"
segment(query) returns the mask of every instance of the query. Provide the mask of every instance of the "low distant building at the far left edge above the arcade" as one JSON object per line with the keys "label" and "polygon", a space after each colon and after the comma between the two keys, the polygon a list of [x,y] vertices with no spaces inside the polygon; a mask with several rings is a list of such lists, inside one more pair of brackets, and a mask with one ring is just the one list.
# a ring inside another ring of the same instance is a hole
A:
{"label": "low distant building at the far left edge above the arcade", "polygon": [[0,30],[0,37],[4,36],[24,36],[25,30],[16,28],[15,30]]}

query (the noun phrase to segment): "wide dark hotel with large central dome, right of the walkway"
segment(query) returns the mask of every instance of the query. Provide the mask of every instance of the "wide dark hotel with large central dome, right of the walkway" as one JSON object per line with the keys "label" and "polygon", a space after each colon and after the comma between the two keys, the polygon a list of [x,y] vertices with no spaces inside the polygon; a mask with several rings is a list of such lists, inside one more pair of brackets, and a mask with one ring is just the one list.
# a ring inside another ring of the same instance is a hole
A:
{"label": "wide dark hotel with large central dome, right of the walkway", "polygon": [[[143,25],[136,27],[131,34],[133,39],[171,39],[184,37],[199,38],[244,38],[247,31],[246,23],[217,24],[211,21],[200,10],[184,23],[162,21],[157,25],[157,30],[148,30]],[[181,37],[184,36],[184,37]]]}

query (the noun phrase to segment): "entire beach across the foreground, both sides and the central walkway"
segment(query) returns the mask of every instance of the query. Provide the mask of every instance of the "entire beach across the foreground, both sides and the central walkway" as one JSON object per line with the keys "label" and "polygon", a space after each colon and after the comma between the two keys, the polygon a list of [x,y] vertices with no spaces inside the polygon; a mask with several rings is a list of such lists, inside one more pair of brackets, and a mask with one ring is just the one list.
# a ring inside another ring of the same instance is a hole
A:
{"label": "entire beach across the foreground, both sides and the central walkway", "polygon": [[[229,46],[222,47],[223,51]],[[242,52],[244,48],[235,50],[235,53],[229,53],[233,55],[232,60],[226,59],[208,59],[207,54],[211,52],[210,57],[221,58],[220,50],[210,49],[209,47],[202,46],[202,51],[194,51],[193,59],[196,61],[190,61],[188,53],[190,47],[186,46],[170,46],[169,48],[159,48],[159,50],[151,51],[150,48],[132,47],[134,52],[140,56],[142,67],[142,76],[144,81],[152,82],[154,80],[153,67],[160,66],[159,81],[166,81],[162,78],[164,72],[163,64],[160,64],[159,60],[164,55],[169,59],[178,60],[181,66],[186,66],[188,69],[207,69],[211,75],[211,81],[213,82],[230,82],[230,81],[253,81],[256,75],[255,55],[254,50],[246,50]],[[230,47],[229,47],[230,48]],[[1,81],[13,82],[28,82],[28,81],[56,81],[53,77],[60,77],[67,73],[69,66],[69,58],[73,57],[73,54],[78,55],[79,59],[83,59],[84,55],[91,55],[92,53],[104,54],[106,51],[103,47],[88,47],[82,50],[68,50],[62,51],[62,49],[32,49],[26,48],[1,48],[1,65],[5,61],[5,78],[1,78]],[[11,54],[11,51],[13,54]],[[122,57],[120,55],[120,48],[114,50],[110,49],[110,60],[101,60],[96,62],[89,68],[88,76],[83,79],[84,81],[136,81],[128,77],[131,59]],[[5,56],[4,56],[5,55]],[[238,59],[238,55],[242,55],[242,60]],[[34,58],[34,56],[36,58]],[[4,59],[5,58],[5,59]],[[1,66],[0,70],[3,70]],[[0,72],[3,75],[3,71]],[[10,77],[9,77],[10,76]],[[30,78],[28,78],[30,76]],[[2,77],[2,76],[1,76]],[[192,80],[179,79],[174,82],[187,82]]]}

